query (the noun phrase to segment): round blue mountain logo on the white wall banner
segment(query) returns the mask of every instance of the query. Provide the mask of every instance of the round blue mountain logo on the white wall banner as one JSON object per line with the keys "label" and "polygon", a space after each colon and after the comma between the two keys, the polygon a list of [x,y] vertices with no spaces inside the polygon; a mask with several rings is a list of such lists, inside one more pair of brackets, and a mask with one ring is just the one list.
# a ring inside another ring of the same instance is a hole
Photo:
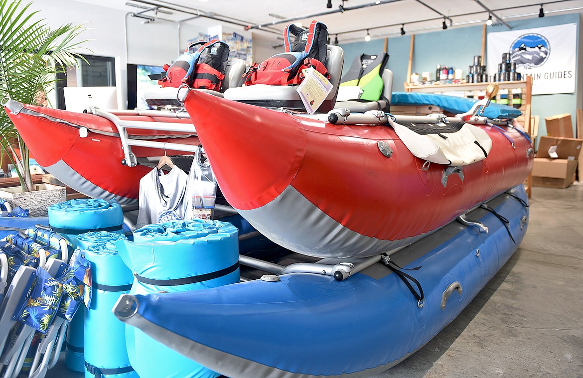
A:
{"label": "round blue mountain logo on the white wall banner", "polygon": [[550,44],[547,38],[536,33],[522,34],[510,45],[512,62],[517,68],[535,68],[542,66],[550,55]]}

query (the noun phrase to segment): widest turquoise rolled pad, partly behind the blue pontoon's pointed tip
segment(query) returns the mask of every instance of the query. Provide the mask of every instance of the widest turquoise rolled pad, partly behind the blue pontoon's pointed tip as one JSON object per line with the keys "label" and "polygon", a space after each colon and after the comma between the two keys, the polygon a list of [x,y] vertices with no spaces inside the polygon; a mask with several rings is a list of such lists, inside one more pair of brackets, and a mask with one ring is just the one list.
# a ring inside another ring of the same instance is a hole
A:
{"label": "widest turquoise rolled pad, partly behind the blue pontoon's pointed tip", "polygon": [[[131,294],[208,289],[239,281],[238,230],[211,220],[170,221],[115,243],[134,273]],[[127,326],[129,361],[141,378],[213,378],[218,373]]]}

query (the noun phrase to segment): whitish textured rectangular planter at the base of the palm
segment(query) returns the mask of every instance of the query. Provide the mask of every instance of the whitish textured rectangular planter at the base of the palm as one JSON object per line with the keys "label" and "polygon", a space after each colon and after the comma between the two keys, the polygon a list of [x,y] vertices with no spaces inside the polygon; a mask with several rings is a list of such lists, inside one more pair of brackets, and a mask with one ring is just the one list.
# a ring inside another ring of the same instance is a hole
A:
{"label": "whitish textured rectangular planter at the base of the palm", "polygon": [[10,203],[12,208],[20,206],[29,209],[29,217],[48,216],[47,207],[64,202],[67,199],[67,192],[64,186],[41,183],[34,185],[34,192],[22,192],[20,186],[0,189],[0,198]]}

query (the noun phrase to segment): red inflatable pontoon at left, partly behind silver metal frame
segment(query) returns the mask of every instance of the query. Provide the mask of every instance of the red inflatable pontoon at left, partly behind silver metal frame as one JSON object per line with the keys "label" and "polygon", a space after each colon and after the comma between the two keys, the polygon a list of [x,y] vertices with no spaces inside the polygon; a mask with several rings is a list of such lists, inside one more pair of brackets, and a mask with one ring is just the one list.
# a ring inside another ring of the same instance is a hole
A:
{"label": "red inflatable pontoon at left, partly behind silver metal frame", "polygon": [[[170,112],[120,111],[109,113],[108,119],[12,100],[5,107],[41,167],[80,193],[101,199],[114,197],[121,204],[138,204],[139,180],[152,169],[137,164],[138,159],[185,153],[173,150],[173,143],[199,144],[190,119]],[[148,129],[153,122],[182,131]],[[119,129],[116,123],[124,127]],[[127,156],[128,147],[122,148],[120,130],[125,140],[167,143],[168,149],[134,145]],[[127,160],[134,160],[134,164]]]}

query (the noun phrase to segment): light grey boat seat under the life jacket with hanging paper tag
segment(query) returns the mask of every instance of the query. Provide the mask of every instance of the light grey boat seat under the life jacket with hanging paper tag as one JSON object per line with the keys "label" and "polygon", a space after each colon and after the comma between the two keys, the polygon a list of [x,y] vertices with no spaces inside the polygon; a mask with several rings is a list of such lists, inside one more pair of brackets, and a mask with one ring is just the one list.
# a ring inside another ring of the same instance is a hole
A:
{"label": "light grey boat seat under the life jacket with hanging paper tag", "polygon": [[[342,65],[344,63],[344,51],[336,45],[327,46],[326,62],[324,65],[330,73],[332,91],[325,98],[324,103],[318,108],[318,112],[328,112],[333,109],[338,94],[338,84],[342,76]],[[268,84],[254,84],[230,88],[224,91],[224,98],[240,101],[242,103],[258,105],[262,107],[283,107],[289,109],[302,109],[300,95],[296,91],[297,86],[279,86]]]}

